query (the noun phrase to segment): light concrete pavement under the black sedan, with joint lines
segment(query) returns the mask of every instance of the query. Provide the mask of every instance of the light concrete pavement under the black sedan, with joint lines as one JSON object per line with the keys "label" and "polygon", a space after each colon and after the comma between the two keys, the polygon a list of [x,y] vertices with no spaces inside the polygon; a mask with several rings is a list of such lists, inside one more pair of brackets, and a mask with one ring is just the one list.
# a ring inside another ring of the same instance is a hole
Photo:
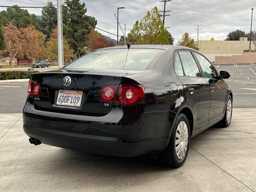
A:
{"label": "light concrete pavement under the black sedan, with joint lines", "polygon": [[161,165],[156,155],[102,156],[31,145],[22,114],[1,114],[0,191],[256,191],[256,108],[236,108],[228,128],[191,139],[185,164]]}

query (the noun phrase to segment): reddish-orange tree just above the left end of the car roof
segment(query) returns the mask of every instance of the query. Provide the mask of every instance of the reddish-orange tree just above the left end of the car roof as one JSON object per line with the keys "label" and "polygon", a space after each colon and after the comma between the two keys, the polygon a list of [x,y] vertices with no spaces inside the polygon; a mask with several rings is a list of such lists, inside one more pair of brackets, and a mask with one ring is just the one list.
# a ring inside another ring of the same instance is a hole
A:
{"label": "reddish-orange tree just above the left end of the car roof", "polygon": [[100,48],[115,46],[115,44],[112,41],[109,41],[104,37],[91,38],[87,44],[88,46],[87,46],[86,52],[90,52]]}

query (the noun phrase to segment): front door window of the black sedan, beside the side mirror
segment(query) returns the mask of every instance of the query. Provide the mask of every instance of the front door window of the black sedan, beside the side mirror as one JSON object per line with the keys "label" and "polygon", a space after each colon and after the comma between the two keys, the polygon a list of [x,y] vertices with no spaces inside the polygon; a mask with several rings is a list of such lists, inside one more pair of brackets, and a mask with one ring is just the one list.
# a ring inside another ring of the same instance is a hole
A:
{"label": "front door window of the black sedan, beside the side mirror", "polygon": [[196,55],[196,58],[198,59],[203,71],[204,71],[204,76],[206,78],[217,78],[217,73],[216,70],[214,69],[214,67],[212,66],[212,64],[206,59],[204,58],[204,56],[194,52],[194,54]]}

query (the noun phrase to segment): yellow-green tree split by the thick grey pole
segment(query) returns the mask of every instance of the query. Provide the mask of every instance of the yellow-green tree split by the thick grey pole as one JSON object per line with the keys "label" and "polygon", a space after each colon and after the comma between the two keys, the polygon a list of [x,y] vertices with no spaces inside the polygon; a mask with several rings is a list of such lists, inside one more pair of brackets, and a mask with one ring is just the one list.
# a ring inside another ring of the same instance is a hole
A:
{"label": "yellow-green tree split by the thick grey pole", "polygon": [[[45,43],[46,49],[42,54],[44,59],[58,60],[58,32],[57,27],[52,30],[50,38]],[[72,50],[68,44],[68,41],[63,38],[63,59],[68,60],[74,58],[74,50]]]}

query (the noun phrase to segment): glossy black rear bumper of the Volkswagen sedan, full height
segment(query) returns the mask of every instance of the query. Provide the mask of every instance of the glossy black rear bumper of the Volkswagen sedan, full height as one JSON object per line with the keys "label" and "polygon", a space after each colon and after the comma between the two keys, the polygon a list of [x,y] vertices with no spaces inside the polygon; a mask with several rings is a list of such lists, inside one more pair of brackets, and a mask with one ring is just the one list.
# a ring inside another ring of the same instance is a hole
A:
{"label": "glossy black rear bumper of the Volkswagen sedan, full height", "polygon": [[144,112],[132,124],[122,124],[122,108],[105,116],[83,116],[36,110],[26,102],[24,132],[51,146],[112,156],[138,156],[161,152],[168,144],[172,111]]}

